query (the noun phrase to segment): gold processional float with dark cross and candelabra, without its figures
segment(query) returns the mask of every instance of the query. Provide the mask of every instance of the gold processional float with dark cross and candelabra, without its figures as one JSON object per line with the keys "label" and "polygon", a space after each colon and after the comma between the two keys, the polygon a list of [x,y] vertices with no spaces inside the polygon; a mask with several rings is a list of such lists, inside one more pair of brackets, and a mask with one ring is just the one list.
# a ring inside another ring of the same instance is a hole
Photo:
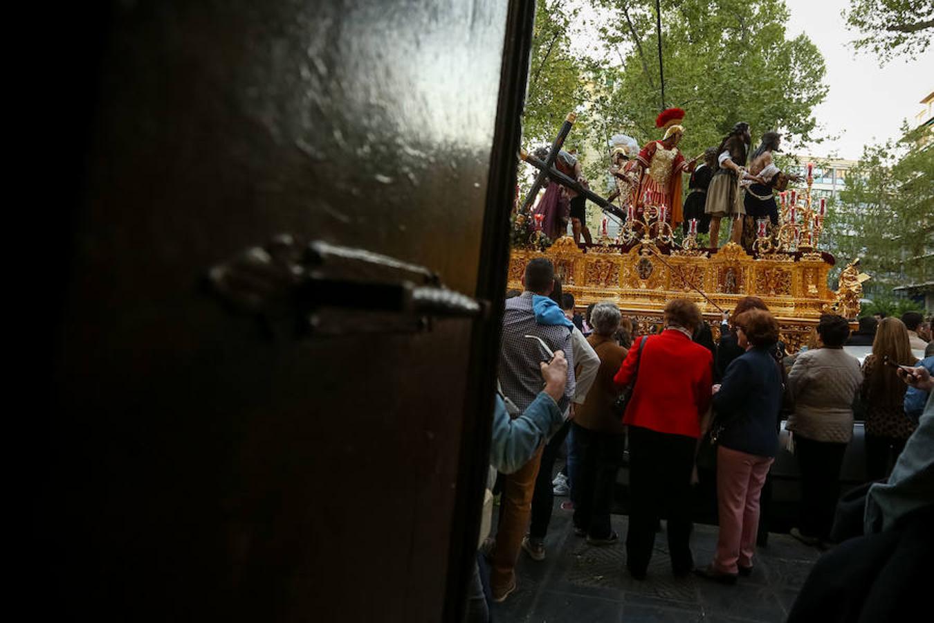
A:
{"label": "gold processional float with dark cross and candelabra, without its figures", "polygon": [[[687,298],[700,306],[705,318],[715,320],[711,322],[715,337],[722,312],[731,310],[743,296],[753,295],[768,304],[778,319],[789,353],[807,342],[822,314],[856,319],[862,283],[869,276],[859,273],[858,260],[854,260],[843,268],[838,289],[828,288],[828,273],[836,260],[817,249],[826,202],[822,198],[817,205],[812,203],[811,165],[806,189],[780,194],[779,225],[770,228],[768,219],[757,221],[751,254],[731,242],[719,249],[701,248],[696,219],[688,221],[688,233],[679,243],[665,219],[666,206],[654,204],[649,197],[638,206],[641,210],[633,205],[624,210],[555,167],[574,120],[573,113],[567,116],[545,160],[525,150],[519,154],[538,174],[516,215],[517,225],[525,226],[529,236],[513,238],[510,288],[521,288],[525,266],[532,258],[546,257],[555,264],[562,290],[573,293],[579,307],[615,303],[645,334],[660,330],[665,304],[672,298]],[[545,235],[534,225],[531,208],[548,179],[585,195],[608,216],[619,219],[616,238],[609,238],[602,228],[593,245],[563,236],[547,246]]]}

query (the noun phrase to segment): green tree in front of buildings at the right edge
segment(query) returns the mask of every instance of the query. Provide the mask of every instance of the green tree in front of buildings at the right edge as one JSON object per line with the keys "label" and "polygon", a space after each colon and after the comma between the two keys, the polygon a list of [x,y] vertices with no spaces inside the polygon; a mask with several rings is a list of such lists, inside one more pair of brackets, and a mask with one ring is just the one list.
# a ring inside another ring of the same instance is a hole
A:
{"label": "green tree in front of buildings at the right edge", "polygon": [[861,258],[872,290],[934,276],[934,149],[930,131],[905,129],[899,141],[867,146],[846,189],[829,206],[822,247],[838,263]]}

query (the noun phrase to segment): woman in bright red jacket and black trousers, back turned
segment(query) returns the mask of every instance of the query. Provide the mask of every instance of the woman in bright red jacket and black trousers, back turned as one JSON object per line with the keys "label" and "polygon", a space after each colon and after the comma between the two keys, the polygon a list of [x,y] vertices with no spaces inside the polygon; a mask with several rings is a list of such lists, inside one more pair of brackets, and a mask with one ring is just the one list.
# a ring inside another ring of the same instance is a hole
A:
{"label": "woman in bright red jacket and black trousers, back turned", "polygon": [[[644,579],[658,519],[668,520],[668,548],[675,575],[694,568],[691,472],[701,418],[711,401],[713,357],[691,335],[701,310],[687,299],[665,306],[665,330],[632,344],[616,373],[618,388],[636,379],[623,423],[629,426],[630,527],[626,567]],[[638,367],[638,374],[637,374]]]}

